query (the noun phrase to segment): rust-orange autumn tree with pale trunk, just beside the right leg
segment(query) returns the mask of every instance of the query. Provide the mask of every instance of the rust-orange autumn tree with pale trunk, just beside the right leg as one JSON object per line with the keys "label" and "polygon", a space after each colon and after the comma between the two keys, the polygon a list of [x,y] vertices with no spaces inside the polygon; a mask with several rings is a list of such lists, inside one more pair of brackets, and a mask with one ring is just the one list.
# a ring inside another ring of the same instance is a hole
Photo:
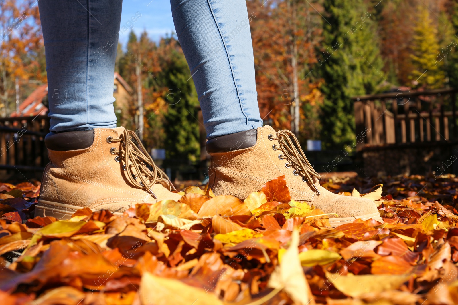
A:
{"label": "rust-orange autumn tree with pale trunk, just beside the right leg", "polygon": [[301,126],[313,128],[308,118],[300,120],[300,116],[302,106],[316,102],[317,97],[310,94],[317,82],[306,76],[316,62],[315,47],[321,37],[321,17],[316,11],[320,5],[317,1],[250,0],[247,6],[261,117],[295,134]]}

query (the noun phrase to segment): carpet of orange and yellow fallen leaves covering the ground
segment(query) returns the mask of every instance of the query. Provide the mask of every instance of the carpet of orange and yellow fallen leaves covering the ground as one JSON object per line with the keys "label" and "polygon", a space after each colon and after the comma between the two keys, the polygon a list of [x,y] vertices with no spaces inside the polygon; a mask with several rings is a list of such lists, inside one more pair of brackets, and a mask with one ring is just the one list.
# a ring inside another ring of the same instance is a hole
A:
{"label": "carpet of orange and yellow fallen leaves covering the ground", "polygon": [[0,184],[2,304],[458,303],[458,178],[322,185],[371,198],[384,223],[331,228],[284,177],[245,201],[187,187],[179,202],[68,220],[33,218],[39,183]]}

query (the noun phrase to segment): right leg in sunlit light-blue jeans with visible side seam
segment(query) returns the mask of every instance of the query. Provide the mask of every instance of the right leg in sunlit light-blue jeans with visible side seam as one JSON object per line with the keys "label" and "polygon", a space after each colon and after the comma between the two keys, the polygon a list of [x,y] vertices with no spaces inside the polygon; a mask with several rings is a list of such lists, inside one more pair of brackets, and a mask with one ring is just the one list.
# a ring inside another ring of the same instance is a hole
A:
{"label": "right leg in sunlit light-blue jeans with visible side seam", "polygon": [[171,0],[207,138],[262,126],[245,0]]}

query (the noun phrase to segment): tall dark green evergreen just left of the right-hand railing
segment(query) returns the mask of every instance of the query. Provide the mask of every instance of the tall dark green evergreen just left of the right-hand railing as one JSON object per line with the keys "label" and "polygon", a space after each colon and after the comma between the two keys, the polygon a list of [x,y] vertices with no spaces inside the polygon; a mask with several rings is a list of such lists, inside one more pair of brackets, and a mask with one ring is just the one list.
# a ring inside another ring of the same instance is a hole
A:
{"label": "tall dark green evergreen just left of the right-hand railing", "polygon": [[364,0],[324,0],[323,7],[324,50],[315,68],[324,80],[322,139],[326,148],[341,148],[355,138],[350,97],[381,90],[383,62]]}

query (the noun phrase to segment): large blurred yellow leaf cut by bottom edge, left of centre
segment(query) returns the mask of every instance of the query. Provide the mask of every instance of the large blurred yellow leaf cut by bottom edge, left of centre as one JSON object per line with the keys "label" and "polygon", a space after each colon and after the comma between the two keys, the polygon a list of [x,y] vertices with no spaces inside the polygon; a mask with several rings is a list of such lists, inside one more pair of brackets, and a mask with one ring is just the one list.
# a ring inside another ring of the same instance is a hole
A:
{"label": "large blurred yellow leaf cut by bottom edge, left of centre", "polygon": [[211,292],[148,272],[142,275],[139,292],[142,305],[223,305]]}

